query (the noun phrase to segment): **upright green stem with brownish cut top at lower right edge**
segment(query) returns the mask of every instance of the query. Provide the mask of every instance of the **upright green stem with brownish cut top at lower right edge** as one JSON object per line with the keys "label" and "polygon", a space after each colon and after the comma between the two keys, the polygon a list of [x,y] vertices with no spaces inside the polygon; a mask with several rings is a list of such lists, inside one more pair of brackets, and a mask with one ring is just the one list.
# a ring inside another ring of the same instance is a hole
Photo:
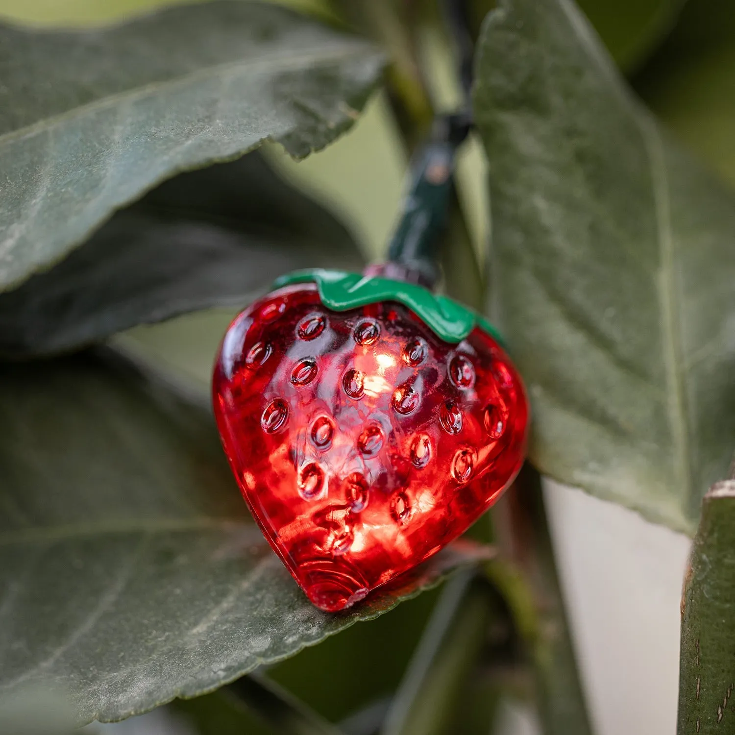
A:
{"label": "upright green stem with brownish cut top at lower right edge", "polygon": [[735,480],[704,496],[681,598],[678,735],[735,729]]}

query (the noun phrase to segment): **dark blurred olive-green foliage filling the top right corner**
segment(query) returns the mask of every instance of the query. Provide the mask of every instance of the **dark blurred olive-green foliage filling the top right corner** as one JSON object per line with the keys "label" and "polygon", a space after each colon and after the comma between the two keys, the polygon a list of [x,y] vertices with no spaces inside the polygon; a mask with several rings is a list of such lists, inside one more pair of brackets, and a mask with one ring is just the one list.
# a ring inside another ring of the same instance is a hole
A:
{"label": "dark blurred olive-green foliage filling the top right corner", "polygon": [[634,78],[668,129],[735,184],[735,5],[688,2],[666,43]]}

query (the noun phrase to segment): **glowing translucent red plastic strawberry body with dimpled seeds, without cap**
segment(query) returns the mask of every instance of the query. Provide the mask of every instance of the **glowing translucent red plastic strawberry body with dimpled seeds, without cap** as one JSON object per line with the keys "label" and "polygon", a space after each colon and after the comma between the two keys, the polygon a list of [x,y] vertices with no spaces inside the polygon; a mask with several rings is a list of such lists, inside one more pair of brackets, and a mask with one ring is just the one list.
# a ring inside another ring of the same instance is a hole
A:
{"label": "glowing translucent red plastic strawberry body with dimpled seeds, without cap", "polygon": [[331,311],[312,283],[234,320],[213,390],[245,501],[329,612],[462,534],[525,454],[523,384],[492,337],[443,342],[393,301]]}

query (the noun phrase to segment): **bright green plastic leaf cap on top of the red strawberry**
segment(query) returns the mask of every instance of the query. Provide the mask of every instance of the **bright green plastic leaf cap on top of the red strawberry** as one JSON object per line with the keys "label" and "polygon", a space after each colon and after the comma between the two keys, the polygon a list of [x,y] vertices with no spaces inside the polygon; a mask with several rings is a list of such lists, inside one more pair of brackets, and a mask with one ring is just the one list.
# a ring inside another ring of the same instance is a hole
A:
{"label": "bright green plastic leaf cap on top of the red strawberry", "polygon": [[398,301],[408,306],[426,326],[441,340],[458,343],[477,326],[503,344],[498,331],[481,315],[459,304],[453,298],[434,295],[429,289],[412,283],[394,281],[381,276],[363,276],[361,273],[346,273],[343,270],[309,268],[286,273],[274,288],[295,283],[317,284],[324,306],[335,312],[344,312],[357,306],[376,304],[379,301]]}

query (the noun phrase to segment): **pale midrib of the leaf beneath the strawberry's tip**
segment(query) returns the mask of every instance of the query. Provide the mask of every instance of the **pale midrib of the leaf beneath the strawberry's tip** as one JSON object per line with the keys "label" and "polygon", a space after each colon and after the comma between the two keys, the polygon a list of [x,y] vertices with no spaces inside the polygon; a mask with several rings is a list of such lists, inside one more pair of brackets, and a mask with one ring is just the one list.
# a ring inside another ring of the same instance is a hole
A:
{"label": "pale midrib of the leaf beneath the strawberry's tip", "polygon": [[52,543],[66,539],[104,536],[107,534],[159,534],[176,531],[253,531],[261,539],[254,523],[246,519],[192,516],[188,518],[135,518],[108,523],[69,523],[61,526],[36,526],[19,531],[0,532],[0,547]]}

